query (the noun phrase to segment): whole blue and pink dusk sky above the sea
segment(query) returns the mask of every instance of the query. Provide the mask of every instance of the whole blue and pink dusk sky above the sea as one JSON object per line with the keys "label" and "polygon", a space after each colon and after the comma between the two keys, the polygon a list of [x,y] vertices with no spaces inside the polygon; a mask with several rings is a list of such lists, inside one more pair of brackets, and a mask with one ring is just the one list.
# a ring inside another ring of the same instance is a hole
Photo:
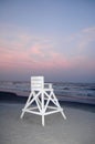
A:
{"label": "whole blue and pink dusk sky above the sea", "polygon": [[0,80],[95,82],[95,0],[0,0]]}

